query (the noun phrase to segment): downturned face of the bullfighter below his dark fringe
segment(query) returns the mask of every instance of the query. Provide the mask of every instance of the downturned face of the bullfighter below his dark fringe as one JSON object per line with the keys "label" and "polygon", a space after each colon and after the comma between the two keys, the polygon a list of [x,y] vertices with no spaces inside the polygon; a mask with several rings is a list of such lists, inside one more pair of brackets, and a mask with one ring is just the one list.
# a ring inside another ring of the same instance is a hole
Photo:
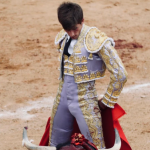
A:
{"label": "downturned face of the bullfighter below his dark fringe", "polygon": [[71,30],[65,30],[68,35],[72,38],[72,39],[77,39],[80,35],[81,29],[83,26],[83,21],[81,22],[81,24],[76,24],[75,27]]}

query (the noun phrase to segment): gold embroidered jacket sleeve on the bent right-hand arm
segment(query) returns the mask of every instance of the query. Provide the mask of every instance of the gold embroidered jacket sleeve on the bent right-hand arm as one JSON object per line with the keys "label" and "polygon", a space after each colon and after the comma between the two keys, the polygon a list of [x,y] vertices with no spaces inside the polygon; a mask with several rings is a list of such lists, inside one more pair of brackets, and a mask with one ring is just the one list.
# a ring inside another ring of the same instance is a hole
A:
{"label": "gold embroidered jacket sleeve on the bent right-hand arm", "polygon": [[106,68],[110,72],[110,83],[102,99],[102,103],[110,108],[114,108],[115,103],[127,81],[127,72],[119,58],[117,51],[107,41],[98,55],[104,61]]}

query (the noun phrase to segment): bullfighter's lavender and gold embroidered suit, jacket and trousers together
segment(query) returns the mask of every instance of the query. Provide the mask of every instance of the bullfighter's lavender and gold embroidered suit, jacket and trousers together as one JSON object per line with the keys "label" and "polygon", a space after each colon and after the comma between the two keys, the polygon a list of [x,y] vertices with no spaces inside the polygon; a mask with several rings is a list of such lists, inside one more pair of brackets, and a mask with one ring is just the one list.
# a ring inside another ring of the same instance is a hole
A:
{"label": "bullfighter's lavender and gold embroidered suit, jacket and trousers together", "polygon": [[104,77],[106,68],[109,70],[110,83],[102,102],[113,108],[126,82],[127,72],[114,49],[113,39],[97,28],[83,25],[70,57],[63,55],[66,39],[64,30],[55,39],[60,51],[60,84],[52,109],[49,144],[69,140],[75,117],[85,138],[98,148],[105,148],[95,80]]}

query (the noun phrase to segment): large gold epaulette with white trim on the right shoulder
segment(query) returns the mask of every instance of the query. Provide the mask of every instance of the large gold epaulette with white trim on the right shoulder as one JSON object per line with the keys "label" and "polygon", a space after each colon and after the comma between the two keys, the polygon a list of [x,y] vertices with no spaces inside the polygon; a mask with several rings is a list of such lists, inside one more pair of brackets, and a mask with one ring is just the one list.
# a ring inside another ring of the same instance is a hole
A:
{"label": "large gold epaulette with white trim on the right shoulder", "polygon": [[96,27],[91,27],[84,38],[84,46],[89,53],[96,53],[104,46],[106,41],[111,41],[114,46],[112,38],[108,38],[104,32],[101,32]]}

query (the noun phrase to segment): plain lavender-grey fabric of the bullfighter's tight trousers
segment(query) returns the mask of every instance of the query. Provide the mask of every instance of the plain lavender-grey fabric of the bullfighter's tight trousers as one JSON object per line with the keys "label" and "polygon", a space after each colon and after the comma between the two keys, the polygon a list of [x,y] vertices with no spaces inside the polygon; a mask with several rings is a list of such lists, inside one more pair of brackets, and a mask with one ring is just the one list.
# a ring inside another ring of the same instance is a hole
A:
{"label": "plain lavender-grey fabric of the bullfighter's tight trousers", "polygon": [[[95,81],[90,81],[90,84],[94,86],[94,82]],[[74,118],[76,119],[79,129],[84,137],[94,143],[87,125],[87,121],[85,120],[85,116],[81,110],[81,105],[78,101],[78,94],[78,85],[75,83],[74,77],[65,75],[60,94],[60,101],[53,119],[50,139],[51,146],[56,146],[70,140]],[[95,113],[91,113],[91,115],[92,116],[87,117],[90,119],[90,117],[93,118],[96,116]],[[100,130],[101,129],[99,129],[99,132],[101,132]],[[103,146],[101,148],[103,148]]]}

